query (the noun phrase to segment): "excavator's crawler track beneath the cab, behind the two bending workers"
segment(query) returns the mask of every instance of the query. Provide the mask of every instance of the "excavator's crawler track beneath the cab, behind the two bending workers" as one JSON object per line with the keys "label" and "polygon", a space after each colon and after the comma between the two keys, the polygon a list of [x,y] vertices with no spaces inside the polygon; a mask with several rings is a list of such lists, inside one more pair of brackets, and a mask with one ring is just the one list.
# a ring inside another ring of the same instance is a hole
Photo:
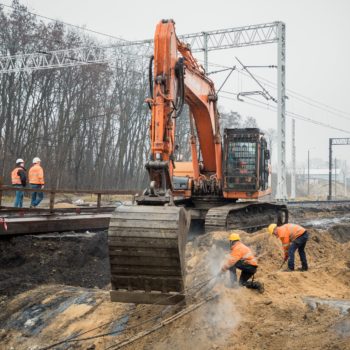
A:
{"label": "excavator's crawler track beneath the cab, behind the two bending workers", "polygon": [[205,217],[205,231],[240,229],[253,232],[272,222],[279,225],[288,222],[286,205],[265,202],[234,203],[209,209]]}

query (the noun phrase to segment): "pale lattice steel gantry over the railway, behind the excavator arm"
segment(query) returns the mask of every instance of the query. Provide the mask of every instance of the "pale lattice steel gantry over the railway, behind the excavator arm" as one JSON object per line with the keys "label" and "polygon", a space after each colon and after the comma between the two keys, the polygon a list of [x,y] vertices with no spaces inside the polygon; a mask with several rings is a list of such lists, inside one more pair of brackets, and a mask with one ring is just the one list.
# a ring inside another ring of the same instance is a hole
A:
{"label": "pale lattice steel gantry over the railway, behind the excavator arm", "polygon": [[[287,199],[286,185],[286,26],[271,22],[244,27],[226,28],[180,35],[192,52],[204,53],[204,68],[208,71],[208,52],[253,45],[277,43],[277,190],[276,199]],[[134,48],[135,50],[132,50]],[[0,73],[18,73],[41,69],[64,68],[86,64],[116,62],[116,57],[128,55],[142,60],[151,55],[153,40],[122,41],[109,47],[81,47],[75,49],[35,52],[1,56]],[[137,52],[137,53],[135,53]]]}

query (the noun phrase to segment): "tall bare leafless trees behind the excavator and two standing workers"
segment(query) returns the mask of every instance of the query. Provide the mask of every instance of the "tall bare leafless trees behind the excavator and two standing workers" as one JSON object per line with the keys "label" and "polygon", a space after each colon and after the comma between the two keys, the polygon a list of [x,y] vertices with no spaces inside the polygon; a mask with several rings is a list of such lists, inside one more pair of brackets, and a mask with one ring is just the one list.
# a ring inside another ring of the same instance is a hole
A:
{"label": "tall bare leafless trees behind the excavator and two standing workers", "polygon": [[[16,10],[8,13],[0,6],[1,55],[100,44],[59,22],[39,21],[17,0],[12,5]],[[147,59],[116,50],[110,64],[2,74],[0,175],[5,183],[17,158],[29,167],[38,156],[50,188],[143,188],[149,154],[147,65]],[[186,114],[176,132],[184,158],[190,154]],[[230,115],[236,119],[230,121]],[[227,126],[242,125],[237,118],[234,112],[222,114]],[[245,123],[256,126],[254,118]]]}

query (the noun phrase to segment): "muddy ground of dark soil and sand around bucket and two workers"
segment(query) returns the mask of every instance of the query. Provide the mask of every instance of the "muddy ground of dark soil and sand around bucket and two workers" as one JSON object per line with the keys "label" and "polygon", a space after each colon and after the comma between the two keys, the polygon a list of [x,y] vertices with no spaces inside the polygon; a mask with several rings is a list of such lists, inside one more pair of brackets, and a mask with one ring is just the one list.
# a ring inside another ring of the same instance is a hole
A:
{"label": "muddy ground of dark soil and sand around bucket and two workers", "polygon": [[[218,297],[125,349],[350,349],[348,208],[292,208],[291,220],[310,227],[310,271],[279,271],[278,241],[241,232],[265,293],[231,289],[228,276],[194,288],[228,251],[226,232],[197,236],[186,247],[189,304]],[[52,348],[107,349],[183,309],[111,303],[108,284],[106,233],[2,238],[0,348],[37,350],[74,336],[87,339]]]}

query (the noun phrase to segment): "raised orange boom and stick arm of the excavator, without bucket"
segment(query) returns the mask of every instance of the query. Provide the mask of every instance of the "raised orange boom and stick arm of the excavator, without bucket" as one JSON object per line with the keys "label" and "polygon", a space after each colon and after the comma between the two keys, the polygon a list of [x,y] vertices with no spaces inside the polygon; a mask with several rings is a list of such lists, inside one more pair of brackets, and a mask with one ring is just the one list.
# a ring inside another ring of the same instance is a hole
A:
{"label": "raised orange boom and stick arm of the excavator, without bucket", "polygon": [[[152,70],[153,62],[153,70]],[[146,164],[149,188],[139,200],[163,204],[171,201],[175,168],[176,119],[184,103],[190,110],[190,123],[196,127],[203,164],[198,164],[197,141],[191,137],[194,187],[203,181],[214,181],[220,191],[222,180],[222,146],[213,82],[193,57],[189,47],[176,36],[175,23],[158,23],[154,37],[154,57],[150,65],[151,98],[147,99],[152,118],[150,125],[151,156]],[[193,120],[192,120],[193,118]]]}

